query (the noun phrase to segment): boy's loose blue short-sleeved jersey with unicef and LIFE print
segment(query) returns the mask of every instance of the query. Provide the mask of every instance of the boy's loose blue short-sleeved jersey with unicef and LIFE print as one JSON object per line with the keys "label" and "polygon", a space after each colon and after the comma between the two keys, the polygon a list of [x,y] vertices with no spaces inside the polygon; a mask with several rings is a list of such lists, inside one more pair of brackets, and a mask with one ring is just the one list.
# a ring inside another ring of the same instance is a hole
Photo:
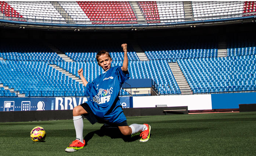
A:
{"label": "boy's loose blue short-sleeved jersey with unicef and LIFE print", "polygon": [[111,67],[86,85],[86,93],[90,96],[86,102],[93,113],[111,123],[126,120],[118,95],[122,84],[129,79],[121,66]]}

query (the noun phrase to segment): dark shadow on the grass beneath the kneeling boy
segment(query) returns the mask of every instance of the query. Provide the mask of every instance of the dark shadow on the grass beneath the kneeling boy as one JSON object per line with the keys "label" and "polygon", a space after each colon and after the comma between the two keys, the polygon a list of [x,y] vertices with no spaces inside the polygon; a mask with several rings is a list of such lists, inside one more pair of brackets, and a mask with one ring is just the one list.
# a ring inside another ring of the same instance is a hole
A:
{"label": "dark shadow on the grass beneath the kneeling boy", "polygon": [[108,127],[108,126],[103,125],[103,126],[101,126],[101,129],[95,130],[93,132],[89,132],[84,137],[85,145],[87,145],[88,141],[94,136],[94,134],[97,134],[100,137],[109,136],[111,139],[121,138],[125,142],[132,142],[132,141],[136,141],[136,140],[140,139],[139,134],[132,135],[132,136],[131,135],[125,136],[120,132],[120,130],[117,127]]}

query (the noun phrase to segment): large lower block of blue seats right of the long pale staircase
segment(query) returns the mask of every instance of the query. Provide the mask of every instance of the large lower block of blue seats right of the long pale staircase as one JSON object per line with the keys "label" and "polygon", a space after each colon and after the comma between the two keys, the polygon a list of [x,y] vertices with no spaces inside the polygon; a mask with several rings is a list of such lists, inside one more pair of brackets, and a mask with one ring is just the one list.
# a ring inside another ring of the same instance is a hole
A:
{"label": "large lower block of blue seats right of the long pale staircase", "polygon": [[180,59],[193,93],[255,91],[255,55]]}

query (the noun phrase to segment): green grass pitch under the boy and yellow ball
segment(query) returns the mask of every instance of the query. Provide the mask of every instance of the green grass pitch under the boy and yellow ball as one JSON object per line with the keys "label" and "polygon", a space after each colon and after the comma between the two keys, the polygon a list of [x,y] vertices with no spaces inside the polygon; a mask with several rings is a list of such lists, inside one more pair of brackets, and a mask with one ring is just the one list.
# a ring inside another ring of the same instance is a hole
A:
{"label": "green grass pitch under the boy and yellow ball", "polygon": [[[84,120],[87,145],[73,153],[65,148],[75,139],[73,120],[0,123],[1,156],[255,156],[256,112],[127,117],[128,124],[151,125],[151,137],[140,143],[102,135],[102,124]],[[45,142],[33,142],[35,126],[46,130]],[[86,135],[87,134],[87,135]]]}

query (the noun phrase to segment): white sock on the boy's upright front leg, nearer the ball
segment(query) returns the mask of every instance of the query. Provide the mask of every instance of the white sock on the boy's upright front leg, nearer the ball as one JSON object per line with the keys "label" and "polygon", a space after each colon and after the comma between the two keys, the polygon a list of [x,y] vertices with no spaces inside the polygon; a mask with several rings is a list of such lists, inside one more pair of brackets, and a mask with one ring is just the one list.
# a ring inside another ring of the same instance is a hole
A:
{"label": "white sock on the boy's upright front leg, nearer the ball", "polygon": [[75,130],[76,130],[76,140],[83,142],[83,118],[82,116],[73,116]]}

